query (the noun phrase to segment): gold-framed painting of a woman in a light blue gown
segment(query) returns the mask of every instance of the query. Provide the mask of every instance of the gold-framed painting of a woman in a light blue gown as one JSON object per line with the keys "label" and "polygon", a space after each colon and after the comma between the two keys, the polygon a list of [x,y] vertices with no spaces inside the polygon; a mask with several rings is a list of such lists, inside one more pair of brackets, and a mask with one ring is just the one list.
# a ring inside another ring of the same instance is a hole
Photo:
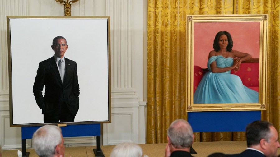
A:
{"label": "gold-framed painting of a woman in a light blue gown", "polygon": [[267,18],[187,15],[188,112],[266,109]]}

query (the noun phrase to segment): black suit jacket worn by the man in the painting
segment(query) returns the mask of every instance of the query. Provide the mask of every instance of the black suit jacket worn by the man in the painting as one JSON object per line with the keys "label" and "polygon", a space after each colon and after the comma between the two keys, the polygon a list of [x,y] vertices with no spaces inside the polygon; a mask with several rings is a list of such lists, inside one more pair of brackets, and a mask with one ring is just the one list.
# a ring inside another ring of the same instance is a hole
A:
{"label": "black suit jacket worn by the man in the painting", "polygon": [[65,58],[65,76],[62,83],[54,56],[40,62],[33,85],[33,94],[38,106],[42,109],[42,114],[53,113],[58,109],[59,101],[64,99],[70,112],[76,116],[80,95],[77,63]]}

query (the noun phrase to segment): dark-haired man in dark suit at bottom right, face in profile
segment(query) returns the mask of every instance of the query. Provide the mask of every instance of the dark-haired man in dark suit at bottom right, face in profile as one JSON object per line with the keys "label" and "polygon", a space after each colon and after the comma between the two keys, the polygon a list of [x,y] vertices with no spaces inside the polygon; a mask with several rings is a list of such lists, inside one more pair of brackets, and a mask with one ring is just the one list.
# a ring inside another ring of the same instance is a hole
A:
{"label": "dark-haired man in dark suit at bottom right, face in profile", "polygon": [[[277,157],[278,132],[270,122],[254,121],[246,127],[247,149],[227,157]],[[211,157],[216,156],[212,154]]]}

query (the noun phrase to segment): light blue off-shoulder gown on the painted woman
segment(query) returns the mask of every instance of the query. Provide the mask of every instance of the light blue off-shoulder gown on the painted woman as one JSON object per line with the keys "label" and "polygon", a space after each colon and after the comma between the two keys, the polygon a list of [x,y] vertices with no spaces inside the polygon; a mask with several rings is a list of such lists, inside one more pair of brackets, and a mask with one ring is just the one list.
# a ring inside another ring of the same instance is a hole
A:
{"label": "light blue off-shoulder gown on the painted woman", "polygon": [[216,61],[217,67],[230,67],[233,58],[212,56],[207,62],[206,72],[194,93],[194,104],[220,103],[258,103],[259,92],[243,85],[239,76],[231,74],[231,70],[212,73],[210,64]]}

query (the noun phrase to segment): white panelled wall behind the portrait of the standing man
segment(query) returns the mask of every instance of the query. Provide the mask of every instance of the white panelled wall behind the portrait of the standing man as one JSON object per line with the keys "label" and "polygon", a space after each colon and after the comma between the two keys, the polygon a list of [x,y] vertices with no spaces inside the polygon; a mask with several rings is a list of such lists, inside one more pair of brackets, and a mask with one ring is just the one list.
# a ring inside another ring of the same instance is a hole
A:
{"label": "white panelled wall behind the portrait of the standing man", "polygon": [[[79,0],[72,16],[110,16],[112,123],[103,124],[103,145],[145,143],[147,0]],[[21,148],[21,127],[9,127],[6,16],[64,16],[55,0],[0,0],[0,145]],[[24,92],[24,91],[23,91]],[[65,144],[96,145],[96,138],[69,137]],[[26,141],[30,148],[31,140]]]}

